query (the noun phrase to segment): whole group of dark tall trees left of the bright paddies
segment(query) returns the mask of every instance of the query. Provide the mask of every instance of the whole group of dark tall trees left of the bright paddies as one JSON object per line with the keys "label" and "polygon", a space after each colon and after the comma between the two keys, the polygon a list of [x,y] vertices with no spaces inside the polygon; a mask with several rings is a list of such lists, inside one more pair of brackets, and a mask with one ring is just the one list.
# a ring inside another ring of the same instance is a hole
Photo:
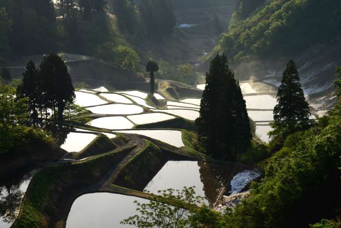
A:
{"label": "whole group of dark tall trees left of the bright paddies", "polygon": [[75,98],[74,87],[67,66],[56,54],[45,56],[40,69],[30,61],[23,74],[23,81],[17,88],[19,98],[27,97],[33,123],[38,117],[49,116],[62,120],[65,107]]}

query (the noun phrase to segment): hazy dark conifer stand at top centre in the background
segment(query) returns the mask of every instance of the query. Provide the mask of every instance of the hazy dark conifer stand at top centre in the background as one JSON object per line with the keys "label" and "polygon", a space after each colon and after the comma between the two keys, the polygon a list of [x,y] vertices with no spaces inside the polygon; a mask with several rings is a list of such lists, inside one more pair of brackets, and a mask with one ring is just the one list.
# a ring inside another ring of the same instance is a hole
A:
{"label": "hazy dark conifer stand at top centre in the background", "polygon": [[173,33],[176,22],[172,0],[141,0],[140,7],[151,39],[159,41]]}

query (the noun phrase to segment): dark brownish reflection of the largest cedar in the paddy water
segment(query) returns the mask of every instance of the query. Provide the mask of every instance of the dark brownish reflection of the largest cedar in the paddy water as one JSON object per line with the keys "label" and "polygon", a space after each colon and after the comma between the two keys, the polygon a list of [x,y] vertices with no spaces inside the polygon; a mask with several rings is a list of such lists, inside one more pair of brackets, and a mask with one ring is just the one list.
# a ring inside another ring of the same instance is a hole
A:
{"label": "dark brownish reflection of the largest cedar in the paddy water", "polygon": [[198,162],[198,165],[205,196],[212,205],[225,184],[231,182],[236,164]]}

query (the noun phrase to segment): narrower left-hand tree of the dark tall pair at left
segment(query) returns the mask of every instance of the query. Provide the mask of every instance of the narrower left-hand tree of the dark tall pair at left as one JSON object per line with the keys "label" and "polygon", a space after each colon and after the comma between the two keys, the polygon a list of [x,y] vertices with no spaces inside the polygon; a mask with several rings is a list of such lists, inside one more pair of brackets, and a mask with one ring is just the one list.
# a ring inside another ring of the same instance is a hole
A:
{"label": "narrower left-hand tree of the dark tall pair at left", "polygon": [[[29,98],[29,111],[33,124],[38,124],[38,110],[40,108],[41,94],[39,88],[39,70],[33,61],[29,61],[23,73],[22,83],[18,85],[16,95],[19,98]],[[42,114],[41,114],[42,115]]]}

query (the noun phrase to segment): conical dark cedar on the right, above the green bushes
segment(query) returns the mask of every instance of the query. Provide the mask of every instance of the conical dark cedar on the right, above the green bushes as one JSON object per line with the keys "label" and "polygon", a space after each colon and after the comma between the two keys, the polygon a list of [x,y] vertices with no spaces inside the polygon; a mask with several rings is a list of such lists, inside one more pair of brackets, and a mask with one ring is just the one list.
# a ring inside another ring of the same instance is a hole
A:
{"label": "conical dark cedar on the right, above the green bushes", "polygon": [[273,111],[273,126],[278,134],[292,134],[310,126],[309,105],[305,100],[296,64],[290,60],[283,72],[282,84],[277,92],[278,104]]}

